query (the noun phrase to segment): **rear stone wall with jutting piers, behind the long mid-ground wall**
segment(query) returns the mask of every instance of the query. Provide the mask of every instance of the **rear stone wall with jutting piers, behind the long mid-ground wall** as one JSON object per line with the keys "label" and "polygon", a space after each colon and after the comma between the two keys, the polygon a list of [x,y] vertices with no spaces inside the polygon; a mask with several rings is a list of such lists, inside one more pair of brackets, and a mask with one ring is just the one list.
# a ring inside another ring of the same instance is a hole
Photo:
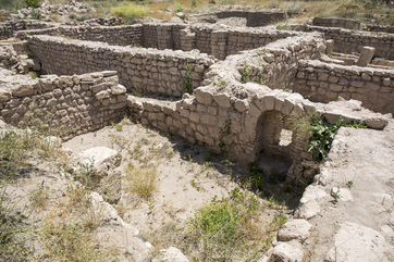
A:
{"label": "rear stone wall with jutting piers, behind the long mid-ground wall", "polygon": [[61,35],[69,38],[101,41],[115,46],[137,46],[190,51],[197,49],[224,60],[230,54],[263,47],[291,36],[296,32],[256,30],[254,28],[217,29],[216,26],[199,27],[177,24],[144,24],[128,26],[61,26],[41,30],[23,30],[16,37],[28,35]]}

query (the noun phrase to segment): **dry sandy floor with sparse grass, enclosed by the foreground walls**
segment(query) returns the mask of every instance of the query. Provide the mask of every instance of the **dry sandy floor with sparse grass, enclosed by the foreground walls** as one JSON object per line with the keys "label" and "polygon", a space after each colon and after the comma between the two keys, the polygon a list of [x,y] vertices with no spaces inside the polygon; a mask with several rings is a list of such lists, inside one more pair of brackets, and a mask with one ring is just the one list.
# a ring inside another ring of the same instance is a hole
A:
{"label": "dry sandy floor with sparse grass, enclosed by the foreground walls", "polygon": [[[82,152],[96,147],[115,150],[118,162],[103,172],[99,187],[84,191],[78,183],[84,184],[83,176],[75,176],[78,174],[75,170],[79,166],[75,163],[84,161]],[[251,188],[247,179],[250,172],[246,167],[227,161],[223,155],[213,155],[182,138],[149,129],[130,120],[122,121],[118,128],[114,124],[74,137],[61,145],[61,152],[51,162],[29,159],[30,166],[23,176],[7,187],[10,204],[15,204],[15,210],[28,217],[27,225],[37,225],[41,232],[51,232],[59,225],[74,221],[77,221],[76,224],[89,224],[95,229],[89,236],[97,240],[99,250],[115,250],[109,252],[106,261],[114,258],[121,261],[150,261],[151,258],[162,258],[162,249],[170,247],[182,249],[192,260],[197,250],[185,251],[183,241],[187,234],[185,228],[196,211],[209,204],[213,198],[229,199],[235,188],[255,196],[254,191],[248,190]],[[261,164],[267,167],[267,160]],[[73,170],[70,167],[72,165],[74,171],[71,173],[76,179],[65,172]],[[130,173],[131,170],[136,172]],[[141,199],[130,190],[130,175],[147,175],[146,172],[152,170],[157,173],[158,188],[150,199]],[[286,195],[282,188],[283,183],[270,184],[266,195],[278,196],[278,199],[258,198],[263,207],[258,223],[267,239],[274,237],[283,224],[284,221],[278,222],[278,217],[293,216],[293,211],[279,201],[288,200],[295,207],[299,197]],[[86,196],[79,196],[79,191]],[[84,201],[90,202],[88,209],[85,209]],[[48,239],[42,244],[42,235],[33,235],[27,246],[34,250],[35,258],[56,258],[48,254]],[[238,260],[243,261],[241,258]]]}

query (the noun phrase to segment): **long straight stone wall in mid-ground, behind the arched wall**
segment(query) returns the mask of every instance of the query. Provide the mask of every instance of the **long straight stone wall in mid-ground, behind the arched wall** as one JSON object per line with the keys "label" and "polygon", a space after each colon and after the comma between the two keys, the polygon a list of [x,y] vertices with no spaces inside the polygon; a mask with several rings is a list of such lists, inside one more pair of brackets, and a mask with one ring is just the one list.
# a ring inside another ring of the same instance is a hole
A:
{"label": "long straight stone wall in mid-ground, behind the arched wall", "polygon": [[214,62],[206,54],[196,52],[163,52],[101,42],[69,41],[50,36],[29,37],[28,43],[30,53],[40,60],[45,72],[63,75],[113,70],[119,72],[122,85],[138,93],[180,97],[187,63],[193,87],[196,88]]}

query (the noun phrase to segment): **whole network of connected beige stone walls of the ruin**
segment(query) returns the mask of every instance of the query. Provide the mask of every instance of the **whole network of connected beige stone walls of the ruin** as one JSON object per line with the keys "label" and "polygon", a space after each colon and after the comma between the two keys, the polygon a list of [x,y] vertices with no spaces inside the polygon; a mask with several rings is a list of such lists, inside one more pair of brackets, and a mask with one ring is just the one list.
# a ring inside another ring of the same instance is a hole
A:
{"label": "whole network of connected beige stone walls of the ruin", "polygon": [[[287,179],[312,178],[319,170],[308,137],[283,117],[316,112],[331,124],[343,117],[383,129],[394,113],[394,35],[320,25],[15,30],[24,40],[3,48],[1,61],[21,66],[26,60],[16,58],[27,54],[47,75],[26,82],[9,74],[0,116],[23,125],[35,105],[67,140],[128,114],[214,153],[226,150],[239,163],[280,158],[288,162]],[[193,95],[184,92],[185,78]]]}

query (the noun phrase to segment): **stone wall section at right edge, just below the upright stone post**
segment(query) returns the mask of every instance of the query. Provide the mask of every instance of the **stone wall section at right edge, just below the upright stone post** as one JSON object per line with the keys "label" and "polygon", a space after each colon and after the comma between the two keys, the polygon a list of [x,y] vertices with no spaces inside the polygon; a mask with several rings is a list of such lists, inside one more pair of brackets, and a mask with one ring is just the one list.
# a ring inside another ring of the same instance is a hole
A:
{"label": "stone wall section at right edge, just below the upright stone post", "polygon": [[394,70],[300,61],[293,90],[317,102],[342,97],[377,112],[394,113]]}

